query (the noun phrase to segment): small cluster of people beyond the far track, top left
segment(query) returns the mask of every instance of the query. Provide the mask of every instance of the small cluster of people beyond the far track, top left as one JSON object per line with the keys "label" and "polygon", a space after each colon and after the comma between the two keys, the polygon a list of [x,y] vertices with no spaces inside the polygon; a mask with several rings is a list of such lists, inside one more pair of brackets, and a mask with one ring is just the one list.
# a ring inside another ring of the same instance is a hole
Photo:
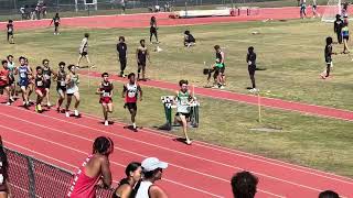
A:
{"label": "small cluster of people beyond the far track, top left", "polygon": [[39,2],[32,6],[23,6],[20,8],[22,20],[40,20],[45,19],[47,13],[47,7],[43,2]]}

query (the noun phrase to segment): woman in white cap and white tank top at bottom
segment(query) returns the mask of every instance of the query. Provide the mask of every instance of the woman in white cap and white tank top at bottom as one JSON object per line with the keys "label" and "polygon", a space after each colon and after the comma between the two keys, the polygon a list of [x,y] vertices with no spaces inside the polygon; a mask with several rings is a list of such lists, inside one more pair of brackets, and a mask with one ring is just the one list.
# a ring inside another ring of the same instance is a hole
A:
{"label": "woman in white cap and white tank top at bottom", "polygon": [[156,157],[149,157],[142,161],[143,179],[139,187],[136,188],[136,198],[168,198],[162,188],[154,185],[162,178],[163,169],[168,163],[161,162]]}

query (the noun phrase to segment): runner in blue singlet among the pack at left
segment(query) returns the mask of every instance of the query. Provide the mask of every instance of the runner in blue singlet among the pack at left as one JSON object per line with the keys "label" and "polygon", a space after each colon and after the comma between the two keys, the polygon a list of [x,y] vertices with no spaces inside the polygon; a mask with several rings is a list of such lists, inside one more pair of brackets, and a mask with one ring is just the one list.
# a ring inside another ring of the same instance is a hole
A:
{"label": "runner in blue singlet among the pack at left", "polygon": [[29,107],[30,106],[30,101],[29,101],[28,89],[29,89],[29,84],[30,84],[29,76],[31,75],[31,70],[25,65],[25,57],[21,56],[19,58],[19,62],[20,62],[19,86],[20,86],[21,92],[22,92],[23,106],[24,107]]}

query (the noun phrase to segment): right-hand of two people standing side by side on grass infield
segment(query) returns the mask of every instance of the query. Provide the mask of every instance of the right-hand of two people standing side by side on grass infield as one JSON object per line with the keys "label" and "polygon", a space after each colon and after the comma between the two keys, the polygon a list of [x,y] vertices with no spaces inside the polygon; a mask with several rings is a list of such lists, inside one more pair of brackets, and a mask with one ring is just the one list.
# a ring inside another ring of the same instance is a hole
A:
{"label": "right-hand of two people standing side by side on grass infield", "polygon": [[[137,70],[137,80],[143,80],[146,81],[147,79],[145,78],[146,75],[146,59],[148,59],[150,63],[150,54],[148,48],[145,46],[145,40],[140,41],[140,45],[139,47],[137,47],[136,50],[136,59],[137,59],[137,66],[138,66],[138,70]],[[142,79],[140,79],[140,73],[142,69]]]}

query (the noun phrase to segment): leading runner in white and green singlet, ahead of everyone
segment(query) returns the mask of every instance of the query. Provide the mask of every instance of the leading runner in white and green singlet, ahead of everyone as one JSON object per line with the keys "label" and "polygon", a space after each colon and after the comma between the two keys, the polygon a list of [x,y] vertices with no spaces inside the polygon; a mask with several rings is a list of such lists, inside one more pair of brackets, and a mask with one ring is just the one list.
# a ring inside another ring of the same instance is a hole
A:
{"label": "leading runner in white and green singlet, ahead of everyone", "polygon": [[176,102],[176,114],[175,122],[179,122],[183,127],[183,132],[185,135],[185,143],[191,145],[192,141],[188,136],[188,120],[190,119],[190,103],[193,101],[192,94],[188,89],[188,80],[179,81],[180,90],[176,91],[175,102]]}

